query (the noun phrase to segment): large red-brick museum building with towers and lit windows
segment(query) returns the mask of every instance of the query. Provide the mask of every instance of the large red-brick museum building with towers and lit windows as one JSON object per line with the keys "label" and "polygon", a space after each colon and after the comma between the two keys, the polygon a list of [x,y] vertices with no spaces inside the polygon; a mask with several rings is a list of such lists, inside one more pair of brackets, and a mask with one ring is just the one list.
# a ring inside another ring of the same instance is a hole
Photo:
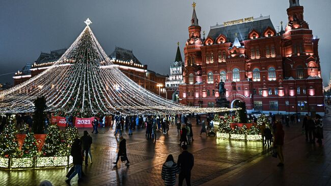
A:
{"label": "large red-brick museum building with towers and lit windows", "polygon": [[194,4],[180,102],[215,107],[222,79],[233,108],[244,101],[247,112],[323,115],[319,39],[299,0],[289,2],[288,23],[279,33],[269,16],[261,16],[210,26],[206,38],[201,38]]}

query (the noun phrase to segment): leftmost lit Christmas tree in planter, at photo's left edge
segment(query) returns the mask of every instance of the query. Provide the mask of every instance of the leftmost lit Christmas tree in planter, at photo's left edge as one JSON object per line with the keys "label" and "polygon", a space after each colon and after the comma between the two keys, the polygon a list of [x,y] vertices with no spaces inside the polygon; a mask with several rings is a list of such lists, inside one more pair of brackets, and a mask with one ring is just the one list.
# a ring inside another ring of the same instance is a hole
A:
{"label": "leftmost lit Christmas tree in planter, at photo's left edge", "polygon": [[18,142],[16,139],[15,115],[9,117],[0,136],[0,155],[4,157],[15,157],[19,155]]}

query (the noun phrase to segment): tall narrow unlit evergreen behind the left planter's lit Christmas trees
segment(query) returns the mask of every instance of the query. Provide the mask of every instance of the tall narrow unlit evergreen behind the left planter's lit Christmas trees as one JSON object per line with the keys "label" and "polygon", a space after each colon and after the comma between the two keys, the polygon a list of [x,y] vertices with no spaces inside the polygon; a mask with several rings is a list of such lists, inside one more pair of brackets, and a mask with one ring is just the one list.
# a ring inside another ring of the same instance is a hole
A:
{"label": "tall narrow unlit evergreen behind the left planter's lit Christmas trees", "polygon": [[35,134],[43,134],[45,125],[45,109],[46,109],[46,99],[45,97],[37,97],[34,101],[35,112],[33,116],[33,131]]}

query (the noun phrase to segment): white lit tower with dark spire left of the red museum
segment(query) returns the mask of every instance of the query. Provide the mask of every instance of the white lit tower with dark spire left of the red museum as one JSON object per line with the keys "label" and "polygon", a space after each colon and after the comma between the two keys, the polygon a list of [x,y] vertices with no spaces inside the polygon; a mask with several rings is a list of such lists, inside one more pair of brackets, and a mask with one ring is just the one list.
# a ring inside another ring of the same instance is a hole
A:
{"label": "white lit tower with dark spire left of the red museum", "polygon": [[179,98],[179,85],[183,83],[184,68],[179,42],[177,42],[177,45],[176,58],[170,66],[170,76],[166,80],[167,99],[171,99],[175,102],[177,102]]}

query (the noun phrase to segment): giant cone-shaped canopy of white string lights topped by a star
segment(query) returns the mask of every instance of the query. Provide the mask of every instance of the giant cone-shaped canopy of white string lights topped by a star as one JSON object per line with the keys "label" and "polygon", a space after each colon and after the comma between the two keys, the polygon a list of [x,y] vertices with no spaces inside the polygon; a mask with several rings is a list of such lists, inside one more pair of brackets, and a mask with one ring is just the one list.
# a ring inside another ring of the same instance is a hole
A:
{"label": "giant cone-shaped canopy of white string lights topped by a star", "polygon": [[[0,113],[34,111],[36,97],[47,111],[77,117],[121,114],[212,113],[235,109],[194,108],[164,99],[137,85],[114,65],[87,26],[52,66],[0,93]],[[38,68],[38,67],[35,67]]]}

